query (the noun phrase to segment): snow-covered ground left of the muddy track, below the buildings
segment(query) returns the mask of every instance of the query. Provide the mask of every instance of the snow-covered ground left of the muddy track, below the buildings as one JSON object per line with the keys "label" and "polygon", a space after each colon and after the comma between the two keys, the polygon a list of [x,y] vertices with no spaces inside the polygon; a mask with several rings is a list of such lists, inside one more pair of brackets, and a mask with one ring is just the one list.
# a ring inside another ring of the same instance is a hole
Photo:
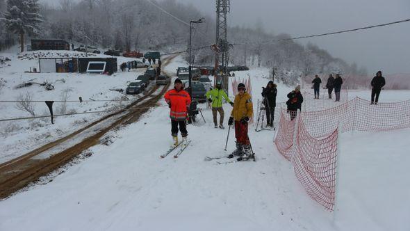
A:
{"label": "snow-covered ground left of the muddy track, below the buildings", "polygon": [[[25,53],[27,57],[38,54],[35,51]],[[79,56],[84,55],[77,51],[42,51],[49,57],[59,55]],[[4,86],[0,87],[0,100],[17,100],[19,95],[32,95],[32,100],[62,100],[67,93],[67,100],[120,100],[114,102],[67,102],[67,109],[62,110],[63,103],[54,102],[54,114],[76,113],[85,111],[116,110],[139,95],[125,95],[110,89],[122,88],[125,90],[127,83],[143,74],[145,68],[131,69],[130,72],[117,72],[111,76],[104,74],[79,74],[79,73],[26,73],[30,67],[38,69],[38,58],[17,58],[13,53],[1,53],[11,59],[8,65],[0,69],[0,79]],[[98,55],[104,56],[104,55]],[[134,58],[117,57],[117,63],[136,60]],[[33,85],[26,88],[15,89],[20,83],[26,81],[42,83],[49,81],[54,84],[54,90],[44,90],[43,86]],[[57,81],[58,80],[58,81]],[[1,85],[1,84],[0,84]],[[151,84],[152,86],[152,84]],[[122,101],[122,99],[125,99]],[[128,99],[128,100],[127,100]],[[49,116],[49,111],[44,102],[33,103],[35,116]],[[1,119],[31,117],[31,114],[20,111],[14,102],[0,102]],[[0,163],[25,154],[44,143],[49,143],[67,132],[84,127],[92,121],[101,118],[107,113],[85,114],[76,116],[62,116],[55,118],[55,124],[51,125],[50,118],[35,120],[17,120],[0,122]]]}

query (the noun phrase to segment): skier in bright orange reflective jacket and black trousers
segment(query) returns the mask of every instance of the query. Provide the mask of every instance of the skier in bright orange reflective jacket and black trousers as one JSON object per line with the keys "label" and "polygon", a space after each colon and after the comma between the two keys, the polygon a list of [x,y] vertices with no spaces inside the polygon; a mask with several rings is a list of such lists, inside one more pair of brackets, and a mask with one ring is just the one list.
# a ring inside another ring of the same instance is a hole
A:
{"label": "skier in bright orange reflective jacket and black trousers", "polygon": [[171,135],[174,139],[174,145],[178,145],[178,125],[181,131],[182,141],[186,140],[188,132],[186,131],[186,116],[188,113],[187,107],[190,106],[190,95],[183,90],[182,81],[175,79],[174,89],[168,90],[165,93],[165,102],[170,106],[171,118]]}

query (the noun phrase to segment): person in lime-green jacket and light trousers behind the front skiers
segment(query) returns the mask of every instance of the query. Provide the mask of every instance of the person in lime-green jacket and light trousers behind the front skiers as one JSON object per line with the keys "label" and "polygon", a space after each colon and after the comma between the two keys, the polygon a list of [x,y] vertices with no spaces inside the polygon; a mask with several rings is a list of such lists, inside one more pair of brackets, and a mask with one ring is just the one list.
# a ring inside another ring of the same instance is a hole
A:
{"label": "person in lime-green jacket and light trousers behind the front skiers", "polygon": [[233,102],[231,102],[231,99],[227,96],[227,93],[225,93],[224,90],[221,89],[221,83],[216,83],[216,88],[213,90],[209,90],[206,93],[206,99],[208,99],[208,102],[211,102],[212,106],[212,115],[213,115],[213,124],[215,125],[215,128],[218,128],[218,122],[216,120],[217,113],[219,112],[220,114],[220,122],[219,122],[219,127],[221,129],[224,129],[224,109],[222,108],[222,97],[233,106]]}

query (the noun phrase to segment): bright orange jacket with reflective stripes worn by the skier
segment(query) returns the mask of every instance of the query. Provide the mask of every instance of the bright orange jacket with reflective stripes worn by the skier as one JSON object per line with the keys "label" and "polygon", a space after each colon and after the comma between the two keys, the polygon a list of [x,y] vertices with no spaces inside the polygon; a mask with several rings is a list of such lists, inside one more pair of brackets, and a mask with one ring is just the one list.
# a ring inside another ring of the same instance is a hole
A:
{"label": "bright orange jacket with reflective stripes worn by the skier", "polygon": [[186,90],[177,91],[175,88],[168,90],[164,95],[165,102],[171,104],[170,118],[171,120],[185,120],[187,115],[187,107],[191,103],[191,99]]}

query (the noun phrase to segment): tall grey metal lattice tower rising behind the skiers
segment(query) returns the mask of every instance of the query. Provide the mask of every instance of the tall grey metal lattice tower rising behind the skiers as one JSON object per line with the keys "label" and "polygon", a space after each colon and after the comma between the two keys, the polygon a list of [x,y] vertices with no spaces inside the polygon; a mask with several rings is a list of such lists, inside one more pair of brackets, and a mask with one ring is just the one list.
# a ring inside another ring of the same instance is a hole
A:
{"label": "tall grey metal lattice tower rising behind the skiers", "polygon": [[[215,81],[218,74],[222,72],[222,87],[228,93],[228,75],[227,66],[229,58],[229,42],[228,42],[228,26],[227,14],[231,11],[230,0],[216,0],[216,41],[220,52],[215,52],[215,63],[218,65],[215,68]],[[214,84],[215,84],[214,81]],[[219,80],[220,81],[220,80]]]}

